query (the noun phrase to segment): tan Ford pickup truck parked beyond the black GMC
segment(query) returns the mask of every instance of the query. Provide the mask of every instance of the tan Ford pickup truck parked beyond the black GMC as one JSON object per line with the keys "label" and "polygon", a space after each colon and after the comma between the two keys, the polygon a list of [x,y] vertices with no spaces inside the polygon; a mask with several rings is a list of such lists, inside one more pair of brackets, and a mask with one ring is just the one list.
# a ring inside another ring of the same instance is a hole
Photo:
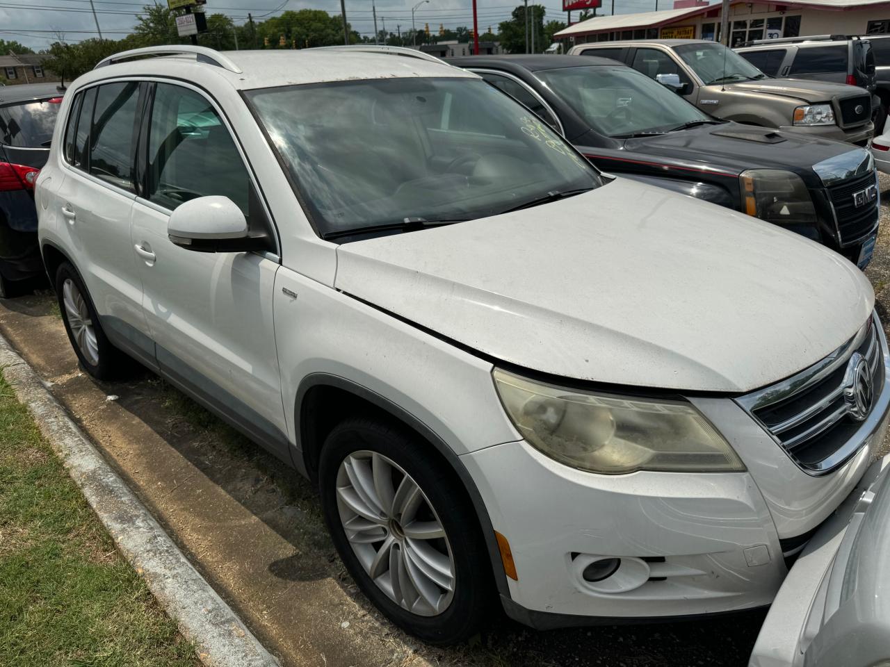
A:
{"label": "tan Ford pickup truck parked beyond the black GMC", "polygon": [[626,40],[577,44],[569,52],[619,60],[666,82],[679,77],[677,92],[724,120],[863,147],[874,133],[868,91],[827,81],[773,79],[723,44],[693,39]]}

